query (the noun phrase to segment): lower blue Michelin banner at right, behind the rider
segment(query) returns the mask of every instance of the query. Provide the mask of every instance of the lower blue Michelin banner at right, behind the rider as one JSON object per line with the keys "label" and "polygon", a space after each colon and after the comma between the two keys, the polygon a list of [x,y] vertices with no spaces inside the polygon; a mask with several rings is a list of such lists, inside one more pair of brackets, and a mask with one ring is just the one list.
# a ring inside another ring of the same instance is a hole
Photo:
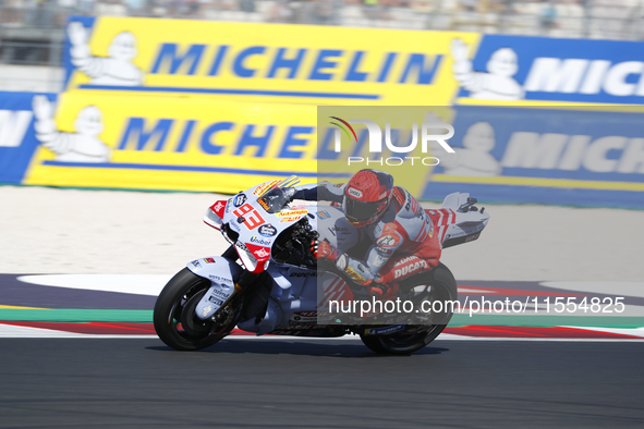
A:
{"label": "lower blue Michelin banner at right, behind the rider", "polygon": [[455,110],[455,154],[439,157],[424,198],[644,208],[644,113]]}

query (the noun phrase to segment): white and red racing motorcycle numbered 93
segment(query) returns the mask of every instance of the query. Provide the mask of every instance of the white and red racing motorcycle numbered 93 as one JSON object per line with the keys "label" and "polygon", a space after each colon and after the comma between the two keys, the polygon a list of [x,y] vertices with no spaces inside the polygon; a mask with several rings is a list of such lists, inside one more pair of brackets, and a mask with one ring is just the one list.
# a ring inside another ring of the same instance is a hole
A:
{"label": "white and red racing motorcycle numbered 93", "polygon": [[[338,306],[336,312],[327,310],[332,297],[341,297],[341,304],[369,297],[343,273],[318,267],[312,243],[333,233],[321,223],[343,213],[332,206],[293,206],[297,183],[296,176],[262,183],[206,210],[204,222],[219,230],[230,247],[221,256],[189,262],[163,287],[154,309],[163,343],[196,351],[236,327],[257,335],[357,334],[376,353],[409,354],[442,332],[453,314],[448,305],[411,318],[384,311],[354,317]],[[442,248],[478,238],[489,214],[475,204],[469,194],[454,193],[441,208],[425,210]],[[365,249],[351,252],[360,258]],[[412,304],[458,299],[454,277],[442,263],[399,285],[399,295]]]}

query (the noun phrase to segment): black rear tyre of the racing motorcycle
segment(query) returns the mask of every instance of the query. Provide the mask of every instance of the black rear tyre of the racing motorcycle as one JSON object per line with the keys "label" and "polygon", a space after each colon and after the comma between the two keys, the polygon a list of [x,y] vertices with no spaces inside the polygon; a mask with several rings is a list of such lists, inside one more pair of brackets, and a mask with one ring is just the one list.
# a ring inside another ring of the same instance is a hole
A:
{"label": "black rear tyre of the racing motorcycle", "polygon": [[[432,293],[432,301],[455,301],[458,299],[457,281],[451,271],[442,263],[428,272],[413,275],[400,282],[401,290],[412,290],[420,285],[429,285]],[[440,324],[429,324],[418,328],[420,332],[408,333],[397,332],[387,335],[361,335],[362,342],[372,351],[380,354],[390,355],[405,355],[414,353],[434,341],[445,329],[453,312],[452,308],[447,311],[437,314]]]}

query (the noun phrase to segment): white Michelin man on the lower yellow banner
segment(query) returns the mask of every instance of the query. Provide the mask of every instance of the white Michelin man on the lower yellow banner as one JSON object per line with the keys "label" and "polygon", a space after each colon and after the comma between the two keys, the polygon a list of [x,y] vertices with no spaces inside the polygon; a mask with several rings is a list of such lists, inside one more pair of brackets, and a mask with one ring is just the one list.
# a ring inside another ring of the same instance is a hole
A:
{"label": "white Michelin man on the lower yellow banner", "polygon": [[57,130],[53,106],[45,96],[33,100],[36,138],[63,162],[108,162],[110,148],[98,136],[102,133],[102,112],[96,106],[83,108],[74,121],[75,133]]}

